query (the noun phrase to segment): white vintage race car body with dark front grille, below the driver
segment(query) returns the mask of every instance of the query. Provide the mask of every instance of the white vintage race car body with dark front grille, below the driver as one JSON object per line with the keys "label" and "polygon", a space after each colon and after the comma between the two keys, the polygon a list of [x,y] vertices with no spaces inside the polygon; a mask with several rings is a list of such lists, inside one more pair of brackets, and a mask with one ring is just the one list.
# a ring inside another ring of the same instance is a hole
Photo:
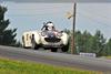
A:
{"label": "white vintage race car body with dark front grille, below the driver", "polygon": [[37,50],[41,46],[52,52],[61,49],[63,52],[67,52],[69,50],[69,35],[63,31],[57,30],[24,32],[22,35],[22,46]]}

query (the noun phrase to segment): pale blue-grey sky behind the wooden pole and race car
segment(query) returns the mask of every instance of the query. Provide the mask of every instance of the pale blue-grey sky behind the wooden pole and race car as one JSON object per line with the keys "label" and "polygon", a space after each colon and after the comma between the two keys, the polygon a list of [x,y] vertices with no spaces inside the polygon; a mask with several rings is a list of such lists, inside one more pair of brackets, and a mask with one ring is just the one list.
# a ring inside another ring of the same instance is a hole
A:
{"label": "pale blue-grey sky behind the wooden pole and race car", "polygon": [[[17,39],[26,31],[40,30],[42,23],[52,21],[58,30],[72,30],[73,3],[2,2],[8,8],[6,19],[10,19],[9,29],[18,28]],[[94,34],[100,30],[105,39],[111,38],[111,3],[77,3],[75,30]]]}

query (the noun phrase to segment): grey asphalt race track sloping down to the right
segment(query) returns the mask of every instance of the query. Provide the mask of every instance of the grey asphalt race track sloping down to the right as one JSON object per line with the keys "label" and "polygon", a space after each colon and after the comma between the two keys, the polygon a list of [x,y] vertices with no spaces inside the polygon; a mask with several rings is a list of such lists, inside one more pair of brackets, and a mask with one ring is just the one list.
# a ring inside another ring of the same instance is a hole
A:
{"label": "grey asphalt race track sloping down to the right", "polygon": [[111,60],[0,45],[0,56],[91,71],[111,71]]}

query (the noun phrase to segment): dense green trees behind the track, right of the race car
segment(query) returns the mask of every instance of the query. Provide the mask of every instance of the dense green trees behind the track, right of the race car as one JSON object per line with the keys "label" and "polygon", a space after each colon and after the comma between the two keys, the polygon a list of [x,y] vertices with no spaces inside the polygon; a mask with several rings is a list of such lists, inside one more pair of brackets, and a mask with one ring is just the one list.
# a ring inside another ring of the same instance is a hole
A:
{"label": "dense green trees behind the track, right of the race car", "polygon": [[[64,30],[71,35],[71,31]],[[107,41],[101,31],[97,30],[95,34],[91,34],[88,31],[83,33],[75,31],[75,53],[95,53],[97,56],[111,55],[111,39]],[[70,41],[71,43],[71,41]]]}

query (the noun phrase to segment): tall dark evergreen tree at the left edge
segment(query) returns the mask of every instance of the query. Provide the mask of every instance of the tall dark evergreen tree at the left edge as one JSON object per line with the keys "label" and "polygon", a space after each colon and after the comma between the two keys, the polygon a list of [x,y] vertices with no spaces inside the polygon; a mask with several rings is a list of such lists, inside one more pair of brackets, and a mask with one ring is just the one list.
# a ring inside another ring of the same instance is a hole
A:
{"label": "tall dark evergreen tree at the left edge", "polygon": [[4,13],[7,12],[6,7],[0,6],[0,44],[1,45],[14,45],[17,40],[14,39],[17,29],[7,29],[10,21],[4,20]]}

